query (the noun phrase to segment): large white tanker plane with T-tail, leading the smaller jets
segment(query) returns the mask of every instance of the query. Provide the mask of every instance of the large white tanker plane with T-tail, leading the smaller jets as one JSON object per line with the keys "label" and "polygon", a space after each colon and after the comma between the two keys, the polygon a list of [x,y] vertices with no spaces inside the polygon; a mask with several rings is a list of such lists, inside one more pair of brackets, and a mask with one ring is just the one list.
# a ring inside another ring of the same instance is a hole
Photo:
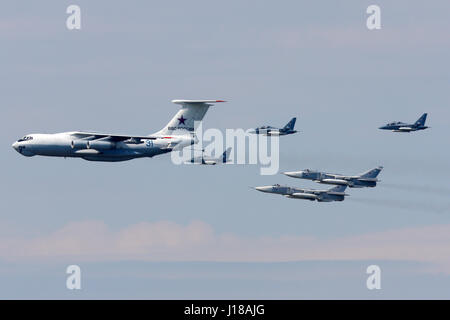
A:
{"label": "large white tanker plane with T-tail, leading the smaller jets", "polygon": [[26,157],[74,157],[89,161],[125,161],[182,149],[197,143],[194,131],[208,108],[223,100],[172,100],[181,109],[160,131],[151,135],[120,135],[71,131],[28,134],[12,147]]}

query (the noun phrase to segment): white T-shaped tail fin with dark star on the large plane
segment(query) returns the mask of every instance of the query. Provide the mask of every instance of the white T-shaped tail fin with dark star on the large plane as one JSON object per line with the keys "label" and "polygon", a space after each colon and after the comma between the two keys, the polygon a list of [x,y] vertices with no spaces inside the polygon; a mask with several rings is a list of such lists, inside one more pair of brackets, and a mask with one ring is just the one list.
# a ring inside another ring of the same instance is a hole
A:
{"label": "white T-shaped tail fin with dark star on the large plane", "polygon": [[173,103],[180,104],[181,109],[175,114],[172,120],[160,131],[153,135],[190,135],[195,132],[200,121],[203,120],[209,107],[223,100],[172,100]]}

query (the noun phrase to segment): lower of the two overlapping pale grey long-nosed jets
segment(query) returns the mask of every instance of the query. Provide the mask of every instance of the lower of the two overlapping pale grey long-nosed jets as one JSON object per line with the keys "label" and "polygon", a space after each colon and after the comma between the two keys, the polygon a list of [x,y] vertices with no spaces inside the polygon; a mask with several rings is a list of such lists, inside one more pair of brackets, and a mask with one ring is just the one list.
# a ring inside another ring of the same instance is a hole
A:
{"label": "lower of the two overlapping pale grey long-nosed jets", "polygon": [[274,184],[273,186],[255,187],[256,190],[267,193],[275,193],[286,198],[304,199],[318,202],[344,201],[348,196],[344,191],[347,186],[336,186],[328,190],[299,189]]}

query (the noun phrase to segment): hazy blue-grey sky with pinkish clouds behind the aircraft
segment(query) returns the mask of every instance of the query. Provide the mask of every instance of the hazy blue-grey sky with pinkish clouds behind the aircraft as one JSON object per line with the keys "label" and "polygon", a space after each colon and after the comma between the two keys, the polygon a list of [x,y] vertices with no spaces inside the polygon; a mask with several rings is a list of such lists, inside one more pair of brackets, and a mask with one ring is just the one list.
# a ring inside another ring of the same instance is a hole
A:
{"label": "hazy blue-grey sky with pinkish clouds behind the aircraft", "polygon": [[[66,29],[81,7],[82,29]],[[381,7],[382,29],[366,28]],[[2,1],[1,298],[450,298],[448,1]],[[27,133],[149,134],[172,99],[205,128],[284,125],[280,171],[357,174],[342,203],[256,165],[25,158]],[[431,129],[377,130],[429,113]],[[83,289],[65,289],[65,267]],[[382,290],[365,269],[382,268]],[[195,289],[193,289],[195,287]]]}

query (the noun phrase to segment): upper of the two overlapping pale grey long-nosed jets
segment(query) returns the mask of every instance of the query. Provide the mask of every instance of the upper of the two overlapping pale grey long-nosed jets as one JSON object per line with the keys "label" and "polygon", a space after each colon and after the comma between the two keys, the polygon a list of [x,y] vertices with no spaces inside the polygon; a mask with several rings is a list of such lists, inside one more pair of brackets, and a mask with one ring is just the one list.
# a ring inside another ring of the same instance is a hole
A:
{"label": "upper of the two overlapping pale grey long-nosed jets", "polygon": [[341,174],[326,173],[310,169],[294,172],[283,172],[284,175],[292,178],[313,180],[314,182],[324,184],[336,184],[348,186],[350,188],[375,187],[378,174],[383,170],[383,167],[377,167],[372,170],[361,173],[357,176],[344,176]]}

